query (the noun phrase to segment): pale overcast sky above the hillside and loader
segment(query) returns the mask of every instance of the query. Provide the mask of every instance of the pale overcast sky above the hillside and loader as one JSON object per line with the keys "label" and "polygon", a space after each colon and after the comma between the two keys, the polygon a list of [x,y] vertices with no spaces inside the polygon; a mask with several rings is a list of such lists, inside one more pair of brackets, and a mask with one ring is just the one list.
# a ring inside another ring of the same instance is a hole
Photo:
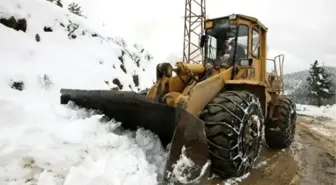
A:
{"label": "pale overcast sky above the hillside and loader", "polygon": [[[136,41],[157,60],[182,57],[184,0],[76,0],[111,35]],[[269,57],[285,54],[285,72],[314,60],[336,66],[335,0],[207,0],[210,18],[241,13],[268,27]]]}

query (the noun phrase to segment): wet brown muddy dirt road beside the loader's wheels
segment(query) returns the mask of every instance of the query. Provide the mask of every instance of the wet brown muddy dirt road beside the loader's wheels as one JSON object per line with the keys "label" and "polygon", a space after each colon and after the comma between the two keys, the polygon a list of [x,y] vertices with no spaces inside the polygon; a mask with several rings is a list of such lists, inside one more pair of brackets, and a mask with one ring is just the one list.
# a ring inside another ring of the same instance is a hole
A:
{"label": "wet brown muddy dirt road beside the loader's wheels", "polygon": [[295,141],[286,150],[265,148],[245,179],[219,185],[336,185],[336,122],[298,117]]}

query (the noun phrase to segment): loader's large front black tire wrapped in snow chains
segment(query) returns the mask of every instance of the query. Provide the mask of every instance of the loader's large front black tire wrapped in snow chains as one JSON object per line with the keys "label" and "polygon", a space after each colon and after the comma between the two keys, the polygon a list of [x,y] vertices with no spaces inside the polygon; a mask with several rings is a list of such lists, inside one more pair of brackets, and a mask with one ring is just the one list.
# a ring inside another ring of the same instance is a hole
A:
{"label": "loader's large front black tire wrapped in snow chains", "polygon": [[[257,118],[248,123],[251,118]],[[219,93],[201,114],[205,122],[212,171],[227,179],[249,172],[259,156],[263,141],[264,117],[258,98],[247,91]],[[252,123],[251,122],[251,123]],[[254,129],[254,134],[244,134]],[[245,151],[244,136],[250,136],[252,149]]]}

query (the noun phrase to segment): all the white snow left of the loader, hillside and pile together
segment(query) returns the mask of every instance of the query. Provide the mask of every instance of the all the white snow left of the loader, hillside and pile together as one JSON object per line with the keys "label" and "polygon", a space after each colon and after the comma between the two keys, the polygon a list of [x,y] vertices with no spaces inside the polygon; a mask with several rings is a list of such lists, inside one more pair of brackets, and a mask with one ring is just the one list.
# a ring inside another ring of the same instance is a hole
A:
{"label": "all the white snow left of the loader, hillside and pile together", "polygon": [[0,184],[156,184],[155,135],[59,104],[60,88],[148,87],[150,54],[46,0],[1,0],[0,22]]}

